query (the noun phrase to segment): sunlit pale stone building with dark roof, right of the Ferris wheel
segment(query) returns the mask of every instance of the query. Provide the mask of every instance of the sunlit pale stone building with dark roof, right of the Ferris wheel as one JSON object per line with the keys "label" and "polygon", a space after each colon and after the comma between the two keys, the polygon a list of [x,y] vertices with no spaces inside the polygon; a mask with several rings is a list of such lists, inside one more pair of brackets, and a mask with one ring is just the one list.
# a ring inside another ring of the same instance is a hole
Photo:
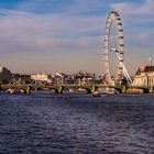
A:
{"label": "sunlit pale stone building with dark roof, right of the Ferris wheel", "polygon": [[141,66],[133,78],[133,86],[154,86],[154,66]]}

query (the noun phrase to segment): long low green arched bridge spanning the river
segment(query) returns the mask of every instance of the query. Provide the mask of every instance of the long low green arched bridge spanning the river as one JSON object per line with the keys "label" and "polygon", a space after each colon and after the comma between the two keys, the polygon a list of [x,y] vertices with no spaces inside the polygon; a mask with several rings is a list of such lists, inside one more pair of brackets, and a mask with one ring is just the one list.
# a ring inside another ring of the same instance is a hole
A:
{"label": "long low green arched bridge spanning the river", "polygon": [[119,94],[127,94],[127,92],[142,92],[142,94],[152,94],[154,92],[154,87],[146,87],[146,86],[111,86],[111,85],[35,85],[35,84],[8,84],[8,85],[1,85],[1,90],[8,90],[8,89],[22,89],[24,94],[31,94],[32,90],[54,90],[55,94],[63,94],[65,90],[79,90],[85,89],[88,94],[92,94],[95,91],[98,91],[99,89],[114,89]]}

